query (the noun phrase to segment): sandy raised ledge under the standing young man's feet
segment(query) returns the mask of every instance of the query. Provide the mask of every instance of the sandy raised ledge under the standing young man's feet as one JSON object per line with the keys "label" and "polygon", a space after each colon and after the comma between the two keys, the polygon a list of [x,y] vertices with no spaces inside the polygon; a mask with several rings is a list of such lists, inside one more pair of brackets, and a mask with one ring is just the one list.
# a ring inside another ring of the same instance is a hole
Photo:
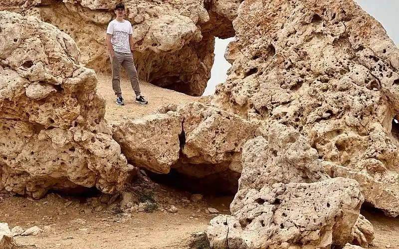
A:
{"label": "sandy raised ledge under the standing young man's feet", "polygon": [[137,118],[156,112],[160,107],[169,104],[183,104],[193,101],[206,101],[209,97],[193,97],[169,89],[154,86],[152,84],[140,83],[143,96],[148,100],[148,105],[135,103],[135,94],[127,78],[122,77],[121,89],[125,106],[115,104],[116,96],[112,90],[111,76],[97,74],[97,93],[106,100],[107,110],[105,119],[110,124],[117,124],[124,119]]}

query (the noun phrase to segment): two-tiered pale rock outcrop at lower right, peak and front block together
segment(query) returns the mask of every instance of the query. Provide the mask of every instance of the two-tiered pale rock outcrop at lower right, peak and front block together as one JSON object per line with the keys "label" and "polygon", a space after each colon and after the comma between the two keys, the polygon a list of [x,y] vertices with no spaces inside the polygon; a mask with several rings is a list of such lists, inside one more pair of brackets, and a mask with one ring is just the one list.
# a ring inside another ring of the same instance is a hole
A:
{"label": "two-tiered pale rock outcrop at lower right, peak and front block together", "polygon": [[273,124],[267,140],[247,141],[242,166],[232,215],[212,219],[207,229],[212,248],[327,249],[353,241],[364,201],[359,184],[331,179],[294,128]]}

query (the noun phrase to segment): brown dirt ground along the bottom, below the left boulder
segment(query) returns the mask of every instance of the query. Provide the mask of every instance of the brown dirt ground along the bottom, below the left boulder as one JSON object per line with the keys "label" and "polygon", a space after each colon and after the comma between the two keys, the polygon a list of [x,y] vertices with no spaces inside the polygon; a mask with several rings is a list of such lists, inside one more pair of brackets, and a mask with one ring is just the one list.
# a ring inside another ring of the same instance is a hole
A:
{"label": "brown dirt ground along the bottom, below the left boulder", "polygon": [[1,222],[10,229],[44,230],[37,236],[14,237],[18,249],[182,249],[191,234],[203,232],[214,217],[195,208],[179,208],[176,214],[117,214],[106,204],[96,212],[88,204],[68,203],[54,194],[41,200],[7,197],[0,203]]}

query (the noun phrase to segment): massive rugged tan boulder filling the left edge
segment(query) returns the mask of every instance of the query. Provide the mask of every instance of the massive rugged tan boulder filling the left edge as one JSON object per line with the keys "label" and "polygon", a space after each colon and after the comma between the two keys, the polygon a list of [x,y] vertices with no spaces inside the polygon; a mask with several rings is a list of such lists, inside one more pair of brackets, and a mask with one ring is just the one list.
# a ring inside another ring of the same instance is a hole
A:
{"label": "massive rugged tan boulder filling the left edge", "polygon": [[53,25],[0,11],[0,191],[124,187],[126,158],[79,56]]}

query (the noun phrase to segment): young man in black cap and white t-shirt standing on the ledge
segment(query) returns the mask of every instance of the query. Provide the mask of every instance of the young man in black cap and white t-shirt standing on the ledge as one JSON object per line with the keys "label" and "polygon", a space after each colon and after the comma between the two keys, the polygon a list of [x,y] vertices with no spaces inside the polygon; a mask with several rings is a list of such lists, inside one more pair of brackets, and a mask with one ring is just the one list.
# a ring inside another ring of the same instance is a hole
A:
{"label": "young man in black cap and white t-shirt standing on the ledge", "polygon": [[125,5],[123,3],[116,4],[115,14],[116,19],[108,24],[106,39],[111,60],[112,88],[117,96],[116,104],[125,105],[120,82],[121,66],[130,78],[130,83],[136,94],[136,103],[148,104],[140,91],[139,78],[133,61],[133,28],[130,21],[124,19]]}

